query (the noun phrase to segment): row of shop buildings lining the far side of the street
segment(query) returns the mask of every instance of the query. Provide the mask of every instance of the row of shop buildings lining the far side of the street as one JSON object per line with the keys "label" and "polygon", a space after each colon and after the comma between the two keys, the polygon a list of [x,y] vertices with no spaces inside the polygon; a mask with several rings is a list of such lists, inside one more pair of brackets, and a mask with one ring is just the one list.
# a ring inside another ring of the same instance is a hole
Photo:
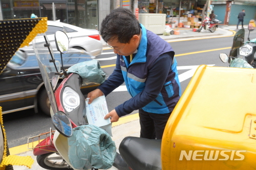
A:
{"label": "row of shop buildings lining the far side of the street", "polygon": [[[184,14],[188,14],[193,9],[197,9],[200,13],[206,2],[206,0],[1,0],[0,20],[30,18],[33,13],[38,17],[60,20],[81,28],[99,29],[102,19],[111,10],[120,6],[134,13],[135,8],[145,7],[147,13],[165,13],[170,17],[186,16]],[[209,1],[209,5],[206,14],[215,10],[218,19],[225,25],[236,25],[238,13],[242,9],[246,11],[245,23],[256,18],[256,0],[212,0]]]}

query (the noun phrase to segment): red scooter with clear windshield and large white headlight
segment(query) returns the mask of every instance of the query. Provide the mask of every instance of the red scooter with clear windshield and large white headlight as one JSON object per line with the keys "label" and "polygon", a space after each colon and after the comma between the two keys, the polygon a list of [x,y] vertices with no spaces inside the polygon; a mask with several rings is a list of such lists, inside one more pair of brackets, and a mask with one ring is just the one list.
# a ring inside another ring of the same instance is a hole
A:
{"label": "red scooter with clear windshield and large white headlight", "polygon": [[[37,36],[33,41],[33,48],[38,59],[38,65],[42,78],[44,80],[46,90],[51,103],[51,116],[54,120],[54,113],[62,111],[67,113],[71,120],[72,128],[81,125],[88,125],[86,116],[86,102],[83,94],[80,91],[81,77],[78,74],[63,73],[66,78],[60,83],[57,89],[56,85],[60,76],[60,63],[54,60],[51,45],[45,34]],[[57,50],[62,54],[68,52],[69,39],[68,36],[62,32],[55,33],[55,42]],[[49,53],[50,52],[50,53]],[[62,63],[61,63],[62,64]],[[63,68],[63,66],[62,66]],[[67,124],[68,125],[68,124]],[[54,126],[55,128],[57,126]],[[46,169],[75,169],[69,161],[68,157],[68,139],[70,135],[65,135],[72,130],[67,130],[65,133],[52,131],[43,133],[28,139],[28,143],[40,137],[46,137],[42,141],[38,141],[35,147],[28,147],[33,149],[33,154],[37,156],[37,163]],[[129,170],[127,164],[123,161],[121,156],[117,154],[114,166],[120,170]]]}

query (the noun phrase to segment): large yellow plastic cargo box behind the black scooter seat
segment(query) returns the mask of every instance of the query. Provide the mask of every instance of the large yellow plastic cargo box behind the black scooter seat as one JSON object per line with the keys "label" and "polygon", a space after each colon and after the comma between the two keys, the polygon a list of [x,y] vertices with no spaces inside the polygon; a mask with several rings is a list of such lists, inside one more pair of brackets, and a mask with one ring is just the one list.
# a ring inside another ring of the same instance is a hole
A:
{"label": "large yellow plastic cargo box behind the black scooter seat", "polygon": [[166,125],[162,169],[256,169],[256,69],[201,65]]}

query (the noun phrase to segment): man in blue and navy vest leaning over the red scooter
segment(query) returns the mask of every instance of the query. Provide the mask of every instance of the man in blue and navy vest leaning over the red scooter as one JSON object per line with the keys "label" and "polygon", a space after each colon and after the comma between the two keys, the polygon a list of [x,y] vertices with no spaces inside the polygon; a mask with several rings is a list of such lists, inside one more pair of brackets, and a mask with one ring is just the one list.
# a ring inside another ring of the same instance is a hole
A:
{"label": "man in blue and navy vest leaning over the red scooter", "polygon": [[103,19],[100,34],[117,54],[116,68],[108,80],[88,94],[89,104],[125,82],[132,98],[104,118],[117,122],[139,109],[140,137],[161,139],[181,94],[173,48],[124,8],[113,10]]}

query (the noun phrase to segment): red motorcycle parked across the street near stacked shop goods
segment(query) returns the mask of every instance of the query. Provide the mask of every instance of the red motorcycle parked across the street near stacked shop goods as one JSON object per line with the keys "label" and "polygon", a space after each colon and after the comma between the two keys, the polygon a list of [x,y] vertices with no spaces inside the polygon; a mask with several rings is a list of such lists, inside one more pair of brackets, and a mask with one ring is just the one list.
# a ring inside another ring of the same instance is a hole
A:
{"label": "red motorcycle parked across the street near stacked shop goods", "polygon": [[[215,15],[217,16],[217,15]],[[209,17],[205,17],[204,20],[202,21],[201,26],[198,29],[198,32],[201,32],[202,29],[206,30],[206,31],[210,31],[211,33],[214,33],[216,31],[216,29],[218,28],[218,24],[221,23],[220,20],[214,18],[214,19],[210,19]]]}

